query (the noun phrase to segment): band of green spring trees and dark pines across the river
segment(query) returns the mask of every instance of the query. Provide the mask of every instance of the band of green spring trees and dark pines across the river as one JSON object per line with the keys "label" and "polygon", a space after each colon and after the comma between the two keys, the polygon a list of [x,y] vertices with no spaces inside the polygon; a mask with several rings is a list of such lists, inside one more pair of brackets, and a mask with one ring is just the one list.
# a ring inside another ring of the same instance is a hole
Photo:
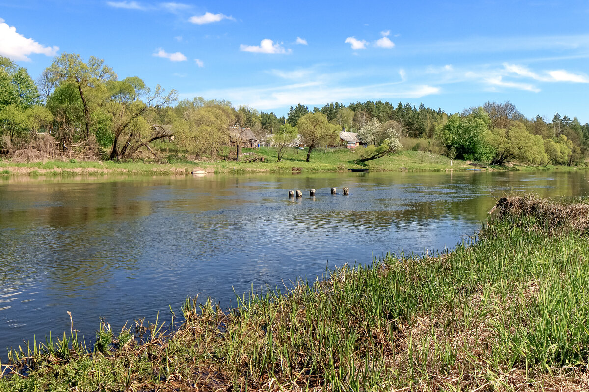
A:
{"label": "band of green spring trees and dark pines across the river", "polygon": [[176,91],[147,86],[141,78],[119,80],[95,57],[62,53],[34,80],[0,56],[0,156],[14,162],[163,162],[170,152],[186,160],[239,160],[234,139],[248,128],[279,151],[278,160],[284,148],[304,145],[308,161],[313,149],[338,146],[341,130],[357,132],[372,149],[421,150],[494,165],[580,165],[589,146],[589,124],[559,113],[526,118],[509,101],[454,114],[423,103],[335,102],[312,109],[299,103],[279,118],[226,100],[178,100]]}

